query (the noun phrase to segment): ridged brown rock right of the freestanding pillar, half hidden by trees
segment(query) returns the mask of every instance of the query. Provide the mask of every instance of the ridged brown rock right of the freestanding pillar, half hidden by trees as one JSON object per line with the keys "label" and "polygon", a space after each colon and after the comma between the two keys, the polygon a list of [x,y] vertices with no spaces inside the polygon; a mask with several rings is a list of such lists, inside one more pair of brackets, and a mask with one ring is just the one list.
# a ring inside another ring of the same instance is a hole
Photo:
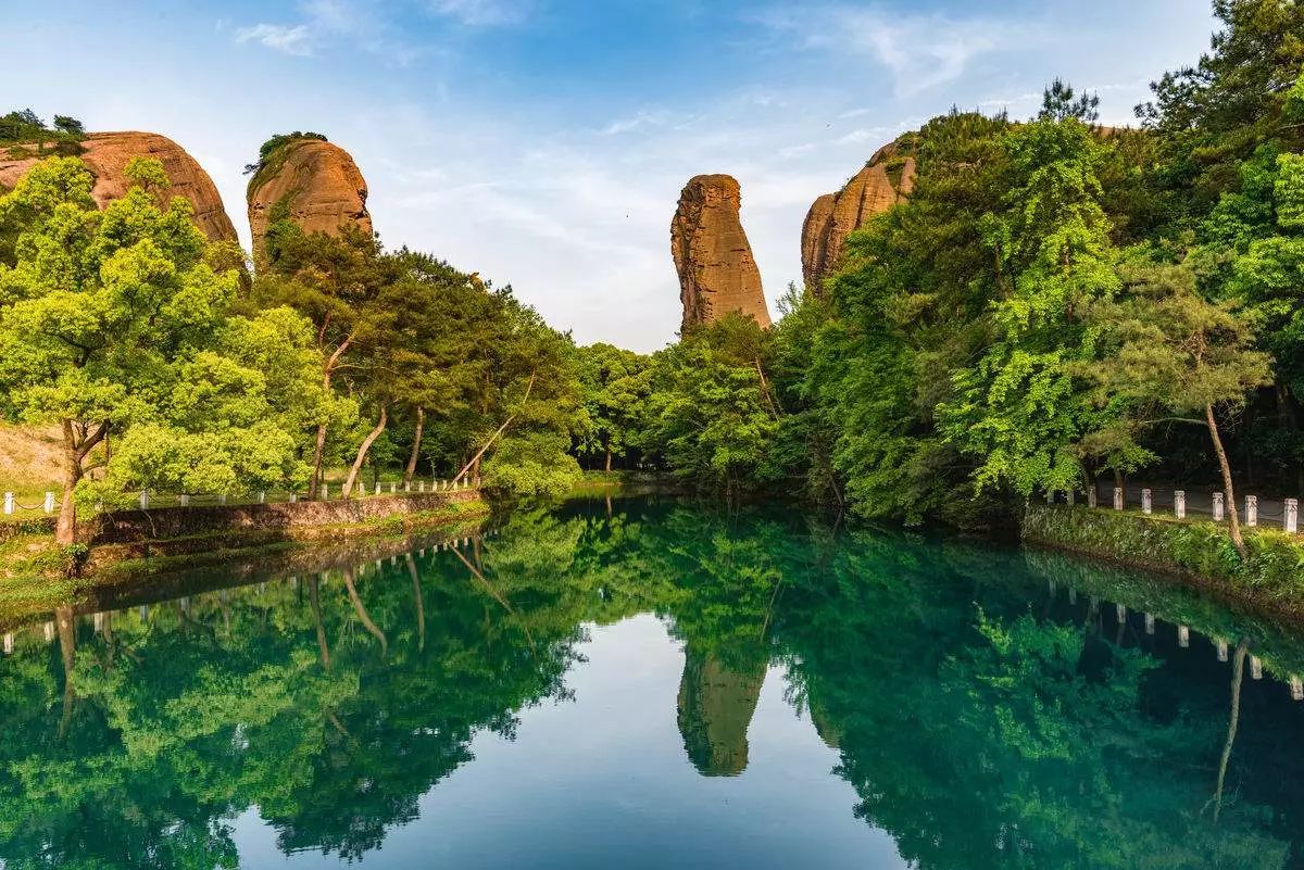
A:
{"label": "ridged brown rock right of the freestanding pillar, half hidden by trees", "polygon": [[842,257],[842,244],[874,215],[880,215],[914,189],[914,156],[885,145],[840,191],[811,204],[802,225],[802,275],[819,292]]}

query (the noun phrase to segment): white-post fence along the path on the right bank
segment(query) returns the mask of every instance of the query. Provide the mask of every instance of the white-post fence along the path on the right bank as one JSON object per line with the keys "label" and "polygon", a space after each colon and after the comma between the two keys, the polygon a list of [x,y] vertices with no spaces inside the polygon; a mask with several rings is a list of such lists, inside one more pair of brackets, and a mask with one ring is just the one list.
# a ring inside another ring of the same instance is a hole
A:
{"label": "white-post fence along the path on the right bank", "polygon": [[[1227,499],[1222,492],[1200,492],[1149,486],[1110,486],[1097,481],[1085,492],[1056,490],[1046,494],[1047,504],[1078,504],[1085,496],[1091,508],[1110,507],[1115,511],[1140,508],[1141,513],[1166,513],[1179,520],[1188,516],[1209,517],[1214,522],[1227,520]],[[1237,516],[1248,527],[1265,526],[1299,534],[1299,499],[1262,499],[1245,495],[1237,500]]]}

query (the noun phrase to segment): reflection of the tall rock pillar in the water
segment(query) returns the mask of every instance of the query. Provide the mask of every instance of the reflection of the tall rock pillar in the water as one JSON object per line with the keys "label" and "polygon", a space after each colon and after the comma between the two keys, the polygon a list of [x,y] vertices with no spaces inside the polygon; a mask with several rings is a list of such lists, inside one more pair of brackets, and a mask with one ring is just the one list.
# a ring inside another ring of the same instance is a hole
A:
{"label": "reflection of the tall rock pillar in the water", "polygon": [[689,761],[703,776],[737,776],[747,768],[747,727],[764,680],[764,662],[739,673],[713,655],[685,650],[679,733]]}

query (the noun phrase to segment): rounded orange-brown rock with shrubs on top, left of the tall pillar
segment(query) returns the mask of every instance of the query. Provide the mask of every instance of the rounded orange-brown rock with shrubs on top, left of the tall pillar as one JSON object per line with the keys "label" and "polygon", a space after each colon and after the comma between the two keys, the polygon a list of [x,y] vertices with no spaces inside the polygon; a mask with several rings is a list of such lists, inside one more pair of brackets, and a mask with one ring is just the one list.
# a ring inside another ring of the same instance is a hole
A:
{"label": "rounded orange-brown rock with shrubs on top, left of the tall pillar", "polygon": [[282,214],[305,233],[334,236],[346,224],[372,232],[366,180],[348,151],[330,142],[297,139],[284,145],[254,175],[248,199],[256,258],[267,227]]}

